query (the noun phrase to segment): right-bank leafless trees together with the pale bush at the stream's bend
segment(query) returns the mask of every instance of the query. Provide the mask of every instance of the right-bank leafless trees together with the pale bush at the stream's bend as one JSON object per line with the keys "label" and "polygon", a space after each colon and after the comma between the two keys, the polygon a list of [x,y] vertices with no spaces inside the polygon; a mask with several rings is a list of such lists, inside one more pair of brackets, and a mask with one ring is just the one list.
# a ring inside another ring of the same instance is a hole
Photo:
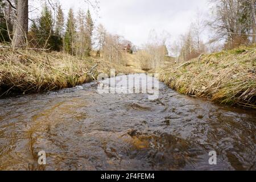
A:
{"label": "right-bank leafless trees together with the pale bush at the stream's bend", "polygon": [[[163,66],[166,60],[164,45],[168,47],[168,55],[172,58],[169,60],[182,64],[206,53],[256,43],[255,0],[210,0],[209,6],[209,17],[198,10],[187,32],[176,39],[171,37],[168,45],[166,40],[171,36],[168,32],[156,35],[153,31],[150,43],[145,44],[138,52],[142,68]],[[204,34],[208,34],[207,40],[204,39]]]}

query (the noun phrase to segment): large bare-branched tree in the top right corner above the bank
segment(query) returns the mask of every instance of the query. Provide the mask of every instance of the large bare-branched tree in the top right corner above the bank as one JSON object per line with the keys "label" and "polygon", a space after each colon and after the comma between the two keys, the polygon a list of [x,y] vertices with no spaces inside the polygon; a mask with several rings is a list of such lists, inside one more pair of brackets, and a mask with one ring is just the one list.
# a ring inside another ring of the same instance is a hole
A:
{"label": "large bare-branched tree in the top right corner above the bank", "polygon": [[255,0],[211,2],[214,3],[214,14],[209,25],[216,31],[216,39],[225,39],[227,48],[248,44],[249,36],[253,36],[255,42]]}

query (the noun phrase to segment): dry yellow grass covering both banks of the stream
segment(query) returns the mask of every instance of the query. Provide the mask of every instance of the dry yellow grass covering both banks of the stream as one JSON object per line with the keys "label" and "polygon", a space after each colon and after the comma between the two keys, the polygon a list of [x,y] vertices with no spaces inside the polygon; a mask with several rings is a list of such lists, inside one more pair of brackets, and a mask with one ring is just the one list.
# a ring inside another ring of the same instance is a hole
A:
{"label": "dry yellow grass covering both banks of the stream", "polygon": [[[93,57],[79,59],[61,52],[0,49],[0,96],[69,88],[94,80],[98,73],[109,74],[112,68],[117,74],[142,72]],[[161,81],[180,93],[256,108],[256,46],[201,55],[157,72]]]}

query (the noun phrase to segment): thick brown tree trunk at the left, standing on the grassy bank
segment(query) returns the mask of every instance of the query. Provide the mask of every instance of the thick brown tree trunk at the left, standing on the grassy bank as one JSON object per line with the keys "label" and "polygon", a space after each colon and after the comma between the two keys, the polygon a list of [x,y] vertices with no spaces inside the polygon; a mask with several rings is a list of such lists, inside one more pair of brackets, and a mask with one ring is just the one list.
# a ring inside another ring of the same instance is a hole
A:
{"label": "thick brown tree trunk at the left, standing on the grassy bank", "polygon": [[28,0],[16,1],[17,18],[14,22],[13,47],[25,46],[28,32]]}

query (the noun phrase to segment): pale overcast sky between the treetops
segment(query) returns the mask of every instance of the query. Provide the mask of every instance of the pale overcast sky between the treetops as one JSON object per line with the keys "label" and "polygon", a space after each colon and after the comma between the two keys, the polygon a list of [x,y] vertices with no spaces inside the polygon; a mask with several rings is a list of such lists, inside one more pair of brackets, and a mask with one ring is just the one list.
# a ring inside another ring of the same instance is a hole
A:
{"label": "pale overcast sky between the treetops", "polygon": [[[96,24],[104,24],[108,32],[122,35],[138,46],[147,42],[151,30],[158,34],[166,31],[174,40],[188,30],[197,10],[204,13],[209,10],[208,0],[99,1],[100,10],[93,14]],[[84,0],[60,0],[60,3],[65,12],[70,7],[75,11],[79,8],[86,11],[90,7]]]}

